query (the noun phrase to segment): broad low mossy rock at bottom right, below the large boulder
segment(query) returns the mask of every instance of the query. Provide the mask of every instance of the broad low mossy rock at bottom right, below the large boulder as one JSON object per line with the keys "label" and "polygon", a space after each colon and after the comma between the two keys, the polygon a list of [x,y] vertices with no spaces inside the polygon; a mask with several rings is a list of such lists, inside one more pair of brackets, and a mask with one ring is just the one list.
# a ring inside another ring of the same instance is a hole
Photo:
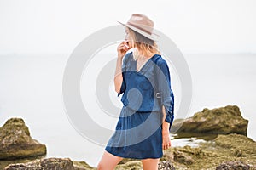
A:
{"label": "broad low mossy rock at bottom right, below the large boulder", "polygon": [[174,155],[171,161],[176,169],[216,169],[228,161],[241,161],[256,169],[256,142],[241,134],[218,134],[196,147],[172,148],[168,155]]}

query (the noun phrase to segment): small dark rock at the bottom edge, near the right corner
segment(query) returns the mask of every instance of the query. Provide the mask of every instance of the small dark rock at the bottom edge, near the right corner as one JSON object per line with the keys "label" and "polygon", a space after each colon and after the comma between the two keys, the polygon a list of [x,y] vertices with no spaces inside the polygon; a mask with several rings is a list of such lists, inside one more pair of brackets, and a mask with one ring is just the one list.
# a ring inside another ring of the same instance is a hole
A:
{"label": "small dark rock at the bottom edge, near the right corner", "polygon": [[216,167],[216,170],[250,170],[251,167],[241,161],[228,161]]}

